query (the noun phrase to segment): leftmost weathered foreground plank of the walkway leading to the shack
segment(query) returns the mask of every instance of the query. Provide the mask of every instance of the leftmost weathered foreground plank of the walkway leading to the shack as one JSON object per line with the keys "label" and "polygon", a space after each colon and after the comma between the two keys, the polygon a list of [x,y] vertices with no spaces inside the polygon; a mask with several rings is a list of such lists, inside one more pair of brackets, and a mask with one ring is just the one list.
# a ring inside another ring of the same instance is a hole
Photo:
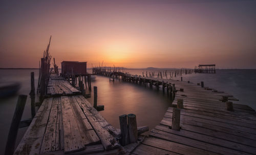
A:
{"label": "leftmost weathered foreground plank of the walkway leading to the shack", "polygon": [[53,98],[45,99],[28,127],[14,154],[39,154]]}

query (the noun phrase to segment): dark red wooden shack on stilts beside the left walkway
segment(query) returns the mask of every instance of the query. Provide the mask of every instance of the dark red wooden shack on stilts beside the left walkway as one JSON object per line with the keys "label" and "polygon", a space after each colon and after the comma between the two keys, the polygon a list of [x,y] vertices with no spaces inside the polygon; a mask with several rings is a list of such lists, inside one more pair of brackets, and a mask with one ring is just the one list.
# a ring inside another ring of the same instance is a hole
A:
{"label": "dark red wooden shack on stilts beside the left walkway", "polygon": [[61,74],[87,74],[87,62],[62,61]]}

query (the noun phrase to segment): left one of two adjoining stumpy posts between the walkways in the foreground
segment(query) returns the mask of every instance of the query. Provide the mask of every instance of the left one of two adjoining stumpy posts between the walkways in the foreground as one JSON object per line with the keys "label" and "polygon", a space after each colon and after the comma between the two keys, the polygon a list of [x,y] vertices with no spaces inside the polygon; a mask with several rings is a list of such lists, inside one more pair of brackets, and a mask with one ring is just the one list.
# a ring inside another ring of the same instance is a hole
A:
{"label": "left one of two adjoining stumpy posts between the walkways in the foreground", "polygon": [[129,144],[128,128],[127,128],[127,115],[119,116],[121,139],[119,140],[122,146]]}

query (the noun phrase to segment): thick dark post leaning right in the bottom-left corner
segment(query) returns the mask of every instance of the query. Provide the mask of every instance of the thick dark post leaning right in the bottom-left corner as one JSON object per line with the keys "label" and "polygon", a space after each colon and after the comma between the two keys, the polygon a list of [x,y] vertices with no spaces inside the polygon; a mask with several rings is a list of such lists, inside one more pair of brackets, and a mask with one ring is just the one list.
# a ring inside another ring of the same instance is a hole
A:
{"label": "thick dark post leaning right in the bottom-left corner", "polygon": [[11,127],[10,127],[9,134],[8,134],[8,139],[7,139],[7,143],[6,143],[6,147],[5,147],[5,155],[13,154],[13,152],[14,152],[15,141],[16,141],[17,132],[18,132],[18,126],[19,126],[20,120],[22,119],[22,114],[24,111],[26,101],[27,101],[27,95],[19,95],[18,96],[18,101],[16,104],[13,118],[12,118],[12,123],[11,123]]}

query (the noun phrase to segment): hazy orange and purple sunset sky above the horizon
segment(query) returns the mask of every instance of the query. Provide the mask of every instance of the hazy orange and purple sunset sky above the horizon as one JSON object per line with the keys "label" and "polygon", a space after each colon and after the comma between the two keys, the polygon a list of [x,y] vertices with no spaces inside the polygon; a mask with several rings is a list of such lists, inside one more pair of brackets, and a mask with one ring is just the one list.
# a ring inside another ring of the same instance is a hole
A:
{"label": "hazy orange and purple sunset sky above the horizon", "polygon": [[0,68],[256,69],[256,1],[1,1]]}

